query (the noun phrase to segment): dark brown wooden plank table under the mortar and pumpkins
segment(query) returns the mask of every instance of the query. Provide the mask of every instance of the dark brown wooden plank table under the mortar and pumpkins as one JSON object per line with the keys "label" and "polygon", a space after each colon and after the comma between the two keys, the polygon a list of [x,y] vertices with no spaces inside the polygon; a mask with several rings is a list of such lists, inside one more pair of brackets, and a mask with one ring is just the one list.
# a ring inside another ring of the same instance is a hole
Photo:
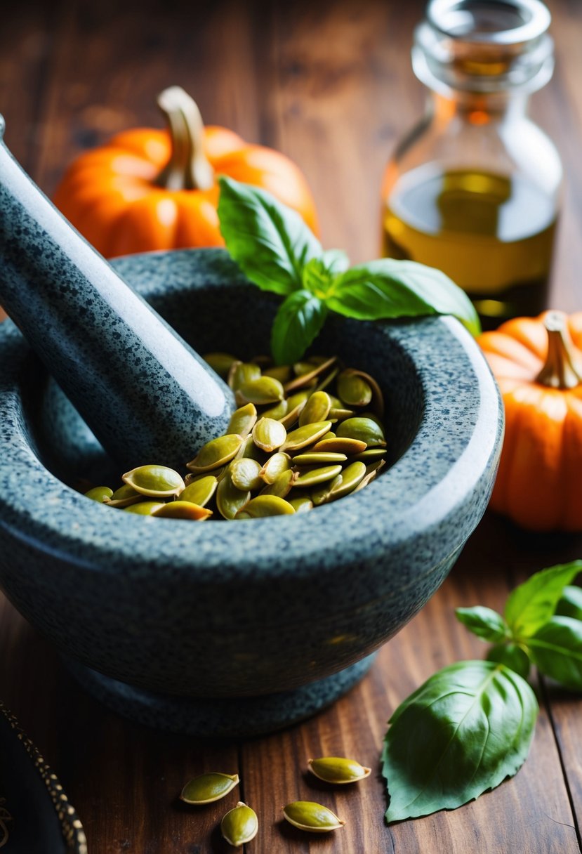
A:
{"label": "dark brown wooden plank table under the mortar and pumpkins", "polygon": [[[582,5],[550,0],[557,67],[533,114],[559,143],[567,170],[552,302],[580,307],[582,269]],[[10,4],[0,30],[0,109],[6,141],[47,192],[81,149],[113,132],[159,125],[154,95],[178,83],[208,123],[224,124],[298,161],[317,198],[323,243],[353,261],[378,251],[381,173],[396,139],[422,110],[410,70],[419,3],[218,2]],[[387,719],[434,670],[481,658],[485,646],[457,623],[457,605],[502,608],[534,570],[582,556],[577,536],[533,536],[489,516],[439,592],[385,646],[370,675],[329,711],[282,733],[212,743],[126,722],[77,687],[55,651],[0,599],[0,698],[61,776],[91,854],[224,851],[222,810],[177,802],[205,770],[237,771],[257,810],[264,854],[569,854],[580,851],[582,704],[534,678],[541,715],[515,779],[453,812],[387,828],[378,773]],[[373,774],[332,790],[306,759],[358,757]],[[282,804],[317,799],[346,819],[323,838],[281,822]]]}

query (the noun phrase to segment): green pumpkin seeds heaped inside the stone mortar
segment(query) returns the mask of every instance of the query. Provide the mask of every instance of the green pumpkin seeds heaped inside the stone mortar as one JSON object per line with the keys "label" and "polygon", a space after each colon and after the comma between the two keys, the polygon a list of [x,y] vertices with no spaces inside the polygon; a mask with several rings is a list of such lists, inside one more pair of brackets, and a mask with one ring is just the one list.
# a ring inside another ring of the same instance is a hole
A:
{"label": "green pumpkin seeds heaped inside the stone mortar", "polygon": [[224,436],[201,447],[182,477],[141,465],[113,492],[89,498],[128,512],[203,521],[310,511],[372,481],[386,456],[384,401],[373,377],[313,356],[294,366],[225,353],[207,363],[235,393]]}

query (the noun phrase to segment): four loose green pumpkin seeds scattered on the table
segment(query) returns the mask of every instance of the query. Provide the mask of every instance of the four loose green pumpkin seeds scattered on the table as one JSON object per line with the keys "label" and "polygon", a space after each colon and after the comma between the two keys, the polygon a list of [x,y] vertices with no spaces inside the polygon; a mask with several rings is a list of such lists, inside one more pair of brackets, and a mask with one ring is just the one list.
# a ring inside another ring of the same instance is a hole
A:
{"label": "four loose green pumpkin seeds scattered on the table", "polygon": [[[338,785],[355,783],[370,775],[370,768],[365,768],[355,759],[345,757],[310,759],[307,767],[320,780]],[[237,774],[221,774],[212,771],[186,783],[180,798],[186,804],[206,806],[225,798],[238,783]],[[295,828],[312,834],[328,833],[346,824],[327,806],[317,804],[315,801],[293,801],[282,808],[282,813]],[[220,822],[221,834],[228,844],[235,848],[246,845],[254,839],[258,831],[257,814],[243,801],[239,801],[236,807],[225,813]]]}

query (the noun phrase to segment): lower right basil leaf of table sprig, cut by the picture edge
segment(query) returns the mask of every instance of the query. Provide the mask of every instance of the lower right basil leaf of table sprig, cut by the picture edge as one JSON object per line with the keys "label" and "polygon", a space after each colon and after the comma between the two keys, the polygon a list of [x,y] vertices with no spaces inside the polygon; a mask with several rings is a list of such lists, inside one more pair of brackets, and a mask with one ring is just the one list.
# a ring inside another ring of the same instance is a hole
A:
{"label": "lower right basil leaf of table sprig, cut by the picture edge", "polygon": [[527,639],[538,670],[556,682],[582,691],[582,622],[573,617],[551,617]]}

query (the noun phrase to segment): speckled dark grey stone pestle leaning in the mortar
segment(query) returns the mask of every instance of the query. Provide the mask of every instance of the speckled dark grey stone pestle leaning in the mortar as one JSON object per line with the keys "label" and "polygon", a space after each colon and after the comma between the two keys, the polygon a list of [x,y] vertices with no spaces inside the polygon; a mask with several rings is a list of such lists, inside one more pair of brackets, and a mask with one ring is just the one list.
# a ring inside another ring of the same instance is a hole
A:
{"label": "speckled dark grey stone pestle leaning in the mortar", "polygon": [[3,143],[0,304],[116,464],[174,468],[224,433],[228,386],[38,190]]}

